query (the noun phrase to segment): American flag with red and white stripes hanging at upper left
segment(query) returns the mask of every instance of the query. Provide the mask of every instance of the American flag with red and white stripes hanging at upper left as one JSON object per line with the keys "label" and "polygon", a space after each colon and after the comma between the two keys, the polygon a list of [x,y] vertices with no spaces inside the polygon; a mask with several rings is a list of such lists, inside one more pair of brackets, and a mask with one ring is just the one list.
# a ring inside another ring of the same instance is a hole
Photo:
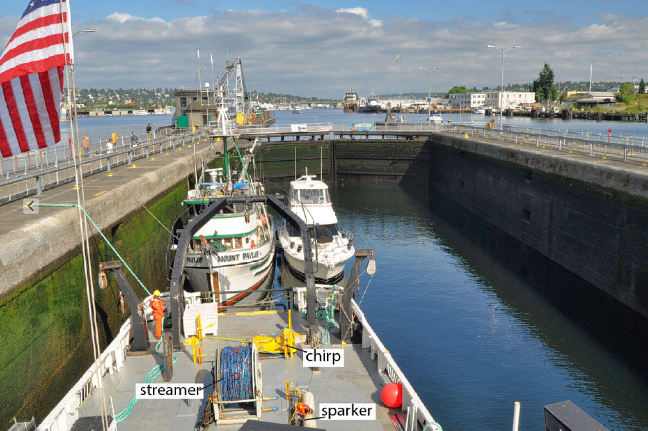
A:
{"label": "American flag with red and white stripes hanging at upper left", "polygon": [[0,153],[61,140],[63,68],[73,58],[69,0],[31,0],[0,57]]}

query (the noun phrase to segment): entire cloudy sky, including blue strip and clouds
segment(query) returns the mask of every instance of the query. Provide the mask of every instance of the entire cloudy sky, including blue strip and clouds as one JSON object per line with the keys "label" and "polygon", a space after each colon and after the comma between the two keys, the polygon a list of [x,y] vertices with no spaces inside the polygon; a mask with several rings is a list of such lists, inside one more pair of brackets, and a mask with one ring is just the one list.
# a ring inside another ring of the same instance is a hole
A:
{"label": "entire cloudy sky, including blue strip and clouds", "polygon": [[[0,45],[27,0],[0,10]],[[402,88],[448,91],[531,82],[544,62],[556,80],[648,78],[648,9],[640,0],[302,1],[71,0],[78,87],[196,87],[240,56],[248,89],[341,98]],[[390,65],[400,55],[399,61]]]}

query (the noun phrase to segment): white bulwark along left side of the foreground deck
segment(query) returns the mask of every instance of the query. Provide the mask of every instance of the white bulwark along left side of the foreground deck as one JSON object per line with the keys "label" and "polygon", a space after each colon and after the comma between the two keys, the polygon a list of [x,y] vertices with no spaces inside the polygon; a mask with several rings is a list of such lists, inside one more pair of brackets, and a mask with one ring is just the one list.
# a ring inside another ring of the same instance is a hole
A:
{"label": "white bulwark along left side of the foreground deck", "polygon": [[[93,362],[90,368],[69,390],[56,407],[43,419],[37,431],[69,431],[79,418],[79,408],[87,397],[102,385],[102,376],[120,371],[126,360],[126,347],[130,338],[130,318],[124,322],[119,334],[101,353],[98,368]],[[115,421],[113,421],[113,424]]]}

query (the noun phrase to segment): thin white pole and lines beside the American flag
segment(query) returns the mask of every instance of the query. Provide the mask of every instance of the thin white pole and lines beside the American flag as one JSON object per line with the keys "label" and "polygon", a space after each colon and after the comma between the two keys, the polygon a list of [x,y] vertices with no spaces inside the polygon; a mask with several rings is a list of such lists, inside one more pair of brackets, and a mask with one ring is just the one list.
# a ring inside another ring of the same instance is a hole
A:
{"label": "thin white pole and lines beside the American flag", "polygon": [[[90,337],[93,348],[93,356],[95,360],[95,369],[99,370],[98,362],[100,357],[101,345],[98,338],[98,325],[97,325],[97,310],[95,308],[95,289],[92,280],[92,267],[91,267],[91,256],[90,256],[90,245],[88,238],[88,226],[87,219],[85,214],[82,214],[81,208],[83,204],[85,212],[85,203],[86,195],[83,190],[83,173],[82,173],[82,164],[81,157],[78,158],[78,164],[76,159],[76,142],[78,142],[78,123],[76,122],[76,89],[74,81],[74,50],[73,50],[73,33],[72,33],[72,15],[70,12],[70,0],[66,1],[65,12],[67,12],[67,36],[68,42],[65,43],[65,20],[64,20],[64,0],[59,0],[59,7],[61,13],[61,32],[63,36],[63,54],[64,54],[64,63],[69,64],[69,67],[65,68],[65,80],[67,82],[67,100],[70,100],[70,87],[72,87],[72,105],[74,106],[73,116],[70,118],[70,137],[72,140],[72,154],[73,162],[75,164],[75,183],[76,183],[76,201],[78,203],[78,217],[79,217],[79,228],[81,233],[81,248],[84,261],[84,278],[86,279],[86,298],[88,303],[88,321],[90,323]],[[69,47],[69,52],[67,51]],[[71,107],[68,106],[68,109]],[[60,113],[58,113],[60,115]],[[76,125],[76,142],[75,142],[75,130],[73,128],[73,122]],[[80,183],[80,184],[79,184]],[[81,193],[81,195],[80,195]],[[106,410],[106,400],[104,395],[104,385],[103,385],[103,375],[97,373],[98,377],[98,395],[99,395],[99,407],[101,411],[101,425],[103,431],[108,430],[108,410]]]}

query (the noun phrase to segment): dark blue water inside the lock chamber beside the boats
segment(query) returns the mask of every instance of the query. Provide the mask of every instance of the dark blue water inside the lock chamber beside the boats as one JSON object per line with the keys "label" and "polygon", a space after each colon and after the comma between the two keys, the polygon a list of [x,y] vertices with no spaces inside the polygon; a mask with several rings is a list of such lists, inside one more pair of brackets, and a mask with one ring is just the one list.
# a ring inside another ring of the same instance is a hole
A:
{"label": "dark blue water inside the lock chamber beside the boats", "polygon": [[355,247],[376,250],[362,309],[445,430],[511,429],[515,401],[520,430],[544,429],[543,406],[567,399],[610,430],[648,429],[643,317],[591,285],[575,289],[573,276],[550,289],[524,280],[523,256],[489,250],[515,240],[476,245],[439,215],[461,210],[421,190],[341,181],[331,192]]}

